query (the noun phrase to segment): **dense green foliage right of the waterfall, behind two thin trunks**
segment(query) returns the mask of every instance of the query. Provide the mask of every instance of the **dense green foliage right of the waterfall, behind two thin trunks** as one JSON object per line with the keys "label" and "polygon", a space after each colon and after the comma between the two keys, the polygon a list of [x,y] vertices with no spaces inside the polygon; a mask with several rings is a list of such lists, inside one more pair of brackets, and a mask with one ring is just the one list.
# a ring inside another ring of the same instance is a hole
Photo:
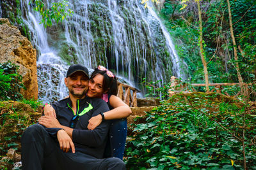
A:
{"label": "dense green foliage right of the waterfall, behind two thin trunks", "polygon": [[[197,46],[198,16],[195,1],[184,10],[178,1],[166,0],[161,10],[164,24],[174,37],[179,57],[188,64],[191,83],[204,83],[204,69]],[[230,37],[226,0],[200,1],[202,7],[204,51],[210,83],[237,82],[234,48]],[[230,0],[238,64],[244,82],[255,82],[256,31],[254,1]],[[239,50],[239,47],[243,52]],[[243,55],[242,55],[243,54]],[[251,96],[252,97],[252,96]],[[254,97],[255,98],[255,97]]]}

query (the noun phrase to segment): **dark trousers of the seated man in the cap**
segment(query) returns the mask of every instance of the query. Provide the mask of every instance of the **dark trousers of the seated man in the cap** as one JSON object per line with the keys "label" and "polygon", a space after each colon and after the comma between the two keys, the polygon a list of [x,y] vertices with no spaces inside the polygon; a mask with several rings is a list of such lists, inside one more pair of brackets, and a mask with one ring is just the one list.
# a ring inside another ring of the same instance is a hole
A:
{"label": "dark trousers of the seated man in the cap", "polygon": [[40,124],[29,126],[21,138],[22,169],[125,169],[117,158],[97,159],[85,153],[65,153]]}

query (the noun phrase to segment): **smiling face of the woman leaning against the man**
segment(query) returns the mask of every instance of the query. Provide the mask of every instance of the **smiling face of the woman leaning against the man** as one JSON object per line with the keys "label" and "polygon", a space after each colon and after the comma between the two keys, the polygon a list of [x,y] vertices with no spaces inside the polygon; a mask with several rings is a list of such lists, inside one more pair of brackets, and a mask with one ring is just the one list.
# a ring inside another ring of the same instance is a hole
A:
{"label": "smiling face of the woman leaning against the man", "polygon": [[97,74],[94,78],[91,78],[89,80],[89,88],[88,88],[87,96],[100,98],[103,94],[102,83],[103,83],[102,74]]}

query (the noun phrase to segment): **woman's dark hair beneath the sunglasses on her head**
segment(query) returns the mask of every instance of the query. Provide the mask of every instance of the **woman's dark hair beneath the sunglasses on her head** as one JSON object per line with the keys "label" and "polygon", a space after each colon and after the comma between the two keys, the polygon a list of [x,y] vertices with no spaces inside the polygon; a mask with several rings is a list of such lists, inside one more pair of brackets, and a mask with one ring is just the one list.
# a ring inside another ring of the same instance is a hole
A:
{"label": "woman's dark hair beneath the sunglasses on her head", "polygon": [[90,79],[94,78],[97,74],[101,74],[103,76],[102,89],[104,92],[108,91],[108,94],[117,95],[117,80],[116,76],[109,77],[107,71],[101,71],[97,68],[94,69]]}

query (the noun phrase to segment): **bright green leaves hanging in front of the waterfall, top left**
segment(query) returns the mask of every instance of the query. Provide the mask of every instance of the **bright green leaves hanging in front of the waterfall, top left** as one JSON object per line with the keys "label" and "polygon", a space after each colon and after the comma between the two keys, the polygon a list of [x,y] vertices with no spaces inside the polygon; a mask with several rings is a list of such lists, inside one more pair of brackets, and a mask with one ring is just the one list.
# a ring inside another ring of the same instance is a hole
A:
{"label": "bright green leaves hanging in front of the waterfall, top left", "polygon": [[[29,3],[33,3],[34,1],[30,1]],[[42,0],[35,0],[35,11],[39,11],[42,16],[42,20],[40,24],[44,24],[45,27],[49,27],[52,25],[52,21],[58,24],[62,20],[66,19],[67,16],[71,16],[74,11],[70,9],[66,9],[68,6],[67,1],[63,0],[60,3],[52,3],[49,8],[47,8],[47,4]]]}

